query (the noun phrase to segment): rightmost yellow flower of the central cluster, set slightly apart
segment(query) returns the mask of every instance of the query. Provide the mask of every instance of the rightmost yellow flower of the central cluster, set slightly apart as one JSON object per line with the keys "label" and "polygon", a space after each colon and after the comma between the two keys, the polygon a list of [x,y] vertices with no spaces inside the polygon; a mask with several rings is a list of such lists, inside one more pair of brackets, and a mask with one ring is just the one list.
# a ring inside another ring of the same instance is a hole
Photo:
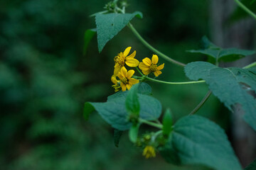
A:
{"label": "rightmost yellow flower of the central cluster, set slightly apart", "polygon": [[142,69],[143,74],[147,75],[151,72],[154,73],[156,77],[158,77],[161,74],[160,69],[164,69],[164,64],[161,64],[157,66],[159,58],[157,55],[153,55],[151,60],[146,57],[142,62],[139,63],[139,68]]}

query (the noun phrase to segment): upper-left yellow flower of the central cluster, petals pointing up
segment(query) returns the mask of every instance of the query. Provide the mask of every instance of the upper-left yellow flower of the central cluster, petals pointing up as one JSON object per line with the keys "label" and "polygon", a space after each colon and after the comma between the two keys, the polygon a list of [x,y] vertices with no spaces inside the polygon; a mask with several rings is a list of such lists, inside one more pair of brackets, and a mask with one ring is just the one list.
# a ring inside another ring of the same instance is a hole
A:
{"label": "upper-left yellow flower of the central cluster, petals pointing up", "polygon": [[136,55],[136,51],[132,52],[132,55],[129,55],[129,52],[132,47],[127,47],[124,52],[120,52],[116,57],[114,57],[114,75],[117,75],[124,64],[127,64],[129,67],[137,67],[139,65],[139,61],[134,59]]}

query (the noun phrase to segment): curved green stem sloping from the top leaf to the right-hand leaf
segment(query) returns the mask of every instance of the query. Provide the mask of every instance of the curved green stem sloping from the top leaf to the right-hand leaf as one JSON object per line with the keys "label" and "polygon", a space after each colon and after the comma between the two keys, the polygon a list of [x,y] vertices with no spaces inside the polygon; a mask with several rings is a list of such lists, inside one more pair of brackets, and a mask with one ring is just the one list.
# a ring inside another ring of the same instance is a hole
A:
{"label": "curved green stem sloping from the top leaf to the right-hand leaf", "polygon": [[137,30],[132,26],[132,23],[128,23],[128,27],[132,30],[132,32],[134,33],[134,35],[142,42],[142,44],[144,44],[146,47],[149,48],[149,50],[155,52],[157,55],[159,55],[160,57],[163,57],[165,60],[172,62],[178,66],[181,67],[185,67],[186,64],[183,64],[182,62],[178,62],[170,57],[168,57],[167,55],[164,55],[162,52],[159,52],[159,50],[156,50],[156,48],[152,47],[151,45],[149,45],[148,42],[146,42],[146,40],[144,40],[144,38],[142,38],[141,35],[139,35],[139,33],[137,32]]}

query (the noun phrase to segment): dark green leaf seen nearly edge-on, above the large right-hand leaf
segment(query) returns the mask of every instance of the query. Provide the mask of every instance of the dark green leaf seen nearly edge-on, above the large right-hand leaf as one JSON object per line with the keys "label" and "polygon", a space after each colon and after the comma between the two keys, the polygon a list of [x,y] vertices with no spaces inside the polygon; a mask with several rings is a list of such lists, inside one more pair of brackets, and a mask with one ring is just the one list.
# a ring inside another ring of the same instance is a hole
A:
{"label": "dark green leaf seen nearly edge-on, above the large right-hand leaf", "polygon": [[210,42],[208,38],[205,36],[202,38],[202,46],[201,50],[188,50],[187,52],[191,53],[200,53],[203,55],[208,55],[209,57],[213,57],[215,61],[223,61],[223,62],[232,62],[238,60],[247,55],[255,54],[255,51],[252,50],[240,50],[237,48],[227,48],[222,49]]}

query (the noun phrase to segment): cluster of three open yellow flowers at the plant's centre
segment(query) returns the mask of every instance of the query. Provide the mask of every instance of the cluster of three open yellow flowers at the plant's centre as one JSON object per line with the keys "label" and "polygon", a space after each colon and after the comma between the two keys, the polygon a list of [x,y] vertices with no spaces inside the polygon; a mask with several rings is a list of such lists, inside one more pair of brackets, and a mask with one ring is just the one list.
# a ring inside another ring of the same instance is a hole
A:
{"label": "cluster of three open yellow flowers at the plant's centre", "polygon": [[[157,55],[153,55],[151,60],[146,57],[142,62],[134,59],[136,55],[136,51],[132,52],[132,55],[128,55],[132,47],[127,47],[124,52],[120,52],[116,57],[114,57],[114,74],[111,77],[111,81],[114,84],[114,91],[117,92],[120,89],[122,91],[126,91],[127,89],[131,89],[132,85],[139,83],[138,79],[132,78],[134,74],[134,70],[127,69],[124,67],[125,64],[129,67],[137,67],[142,69],[142,73],[148,75],[153,72],[156,77],[161,74],[161,69],[164,69],[164,64],[157,66],[157,62],[159,61],[159,57]],[[117,80],[117,77],[119,80]]]}

